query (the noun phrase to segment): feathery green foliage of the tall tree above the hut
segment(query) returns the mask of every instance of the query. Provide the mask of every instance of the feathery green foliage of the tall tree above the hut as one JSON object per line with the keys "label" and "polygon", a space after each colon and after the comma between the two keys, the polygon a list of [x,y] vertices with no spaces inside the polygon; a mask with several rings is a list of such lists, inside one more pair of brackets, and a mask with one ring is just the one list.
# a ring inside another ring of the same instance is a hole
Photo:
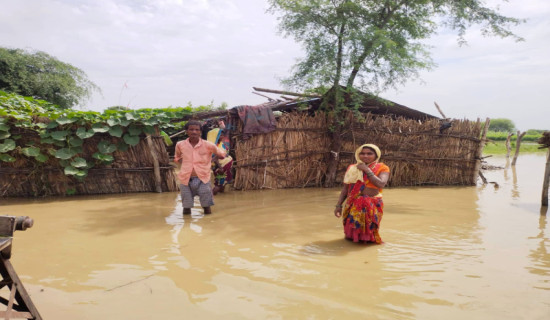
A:
{"label": "feathery green foliage of the tall tree above the hut", "polygon": [[522,20],[505,17],[480,0],[269,0],[280,31],[305,48],[285,83],[308,89],[354,85],[379,93],[434,66],[429,46],[438,24],[458,31],[480,25],[483,35],[513,37]]}

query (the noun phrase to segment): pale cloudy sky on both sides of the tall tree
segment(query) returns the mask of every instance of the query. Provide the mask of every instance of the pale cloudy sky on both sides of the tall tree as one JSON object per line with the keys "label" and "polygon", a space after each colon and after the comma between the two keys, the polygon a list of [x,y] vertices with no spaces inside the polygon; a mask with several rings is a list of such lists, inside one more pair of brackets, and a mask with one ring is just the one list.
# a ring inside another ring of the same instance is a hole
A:
{"label": "pale cloudy sky on both sides of the tall tree", "polygon": [[[437,67],[381,97],[439,116],[511,119],[550,129],[550,1],[509,0],[500,12],[527,22],[525,38],[467,46],[440,30],[428,41]],[[0,46],[44,51],[101,88],[83,109],[255,105],[252,87],[284,89],[300,45],[282,37],[266,0],[0,0]],[[272,98],[278,95],[267,94]]]}

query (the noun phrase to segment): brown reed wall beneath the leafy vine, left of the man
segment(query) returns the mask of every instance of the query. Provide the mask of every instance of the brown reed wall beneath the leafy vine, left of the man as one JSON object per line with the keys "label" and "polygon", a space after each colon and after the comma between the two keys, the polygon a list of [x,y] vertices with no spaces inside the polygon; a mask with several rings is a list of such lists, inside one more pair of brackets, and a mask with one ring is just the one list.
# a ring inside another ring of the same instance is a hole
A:
{"label": "brown reed wall beneath the leafy vine, left of the man", "polygon": [[[18,142],[20,145],[31,141],[39,143],[40,138],[34,131],[18,130],[13,134],[21,135]],[[65,175],[58,159],[54,157],[39,164],[18,155],[16,161],[0,164],[0,198],[155,192],[159,187],[162,191],[176,191],[176,177],[164,141],[158,134],[151,137],[151,144],[141,139],[138,145],[129,147],[128,151],[115,151],[112,153],[115,160],[111,164],[89,169],[88,176],[82,180]],[[112,137],[108,133],[96,133],[84,140],[83,152],[79,156],[93,161],[92,154],[97,151],[97,144],[101,140],[117,144],[121,138]],[[158,159],[160,186],[155,179],[153,153]]]}

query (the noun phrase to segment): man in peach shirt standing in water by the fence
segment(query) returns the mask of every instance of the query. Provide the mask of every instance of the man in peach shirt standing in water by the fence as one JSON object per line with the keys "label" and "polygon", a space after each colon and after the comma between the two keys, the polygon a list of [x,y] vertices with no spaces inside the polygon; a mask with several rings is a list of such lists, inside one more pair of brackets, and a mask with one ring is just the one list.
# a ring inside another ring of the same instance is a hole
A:
{"label": "man in peach shirt standing in water by the fence", "polygon": [[212,213],[214,205],[210,172],[212,155],[225,158],[225,151],[212,142],[201,139],[201,123],[189,121],[185,125],[188,138],[176,144],[174,160],[180,165],[181,202],[183,214],[191,214],[195,196],[199,196],[205,214]]}

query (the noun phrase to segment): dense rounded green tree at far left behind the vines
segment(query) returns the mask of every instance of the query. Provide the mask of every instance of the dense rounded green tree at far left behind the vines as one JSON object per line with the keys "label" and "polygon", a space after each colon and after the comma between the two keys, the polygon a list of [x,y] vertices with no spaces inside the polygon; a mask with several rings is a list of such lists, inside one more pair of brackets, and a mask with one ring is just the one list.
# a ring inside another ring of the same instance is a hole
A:
{"label": "dense rounded green tree at far left behind the vines", "polygon": [[84,71],[45,52],[0,47],[0,90],[71,108],[99,87]]}

